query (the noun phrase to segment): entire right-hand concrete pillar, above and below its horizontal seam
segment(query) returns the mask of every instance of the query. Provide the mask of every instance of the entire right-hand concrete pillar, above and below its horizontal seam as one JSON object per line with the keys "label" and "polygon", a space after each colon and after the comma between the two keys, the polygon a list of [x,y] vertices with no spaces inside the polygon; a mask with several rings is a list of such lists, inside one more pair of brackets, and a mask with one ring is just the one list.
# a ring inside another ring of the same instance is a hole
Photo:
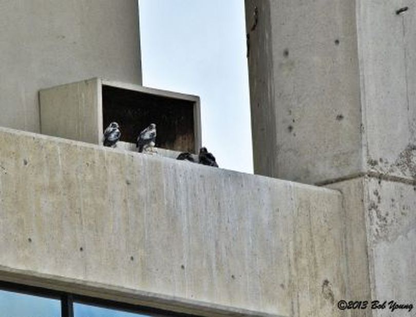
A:
{"label": "entire right-hand concrete pillar, above and below its horizontal seam", "polygon": [[246,0],[245,7],[255,173],[341,191],[350,299],[411,304],[414,2]]}

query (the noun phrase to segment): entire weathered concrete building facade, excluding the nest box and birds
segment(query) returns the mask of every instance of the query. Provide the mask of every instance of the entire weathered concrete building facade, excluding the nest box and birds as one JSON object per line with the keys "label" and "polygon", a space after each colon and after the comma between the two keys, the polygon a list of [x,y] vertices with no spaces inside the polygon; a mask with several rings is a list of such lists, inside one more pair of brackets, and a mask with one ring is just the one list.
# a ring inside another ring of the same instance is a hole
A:
{"label": "entire weathered concrete building facade, excluding the nest box and birds", "polygon": [[413,304],[410,3],[246,1],[256,175],[39,134],[41,89],[141,84],[137,2],[0,5],[0,299],[63,317]]}

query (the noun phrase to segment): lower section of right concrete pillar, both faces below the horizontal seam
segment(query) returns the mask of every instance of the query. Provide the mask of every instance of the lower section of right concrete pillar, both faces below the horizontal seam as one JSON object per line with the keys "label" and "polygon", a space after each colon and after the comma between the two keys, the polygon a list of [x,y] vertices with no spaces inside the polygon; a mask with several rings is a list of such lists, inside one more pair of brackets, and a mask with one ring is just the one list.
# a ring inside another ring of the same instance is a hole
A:
{"label": "lower section of right concrete pillar, both faces below the horizontal seam", "polygon": [[[349,298],[414,306],[416,187],[367,176],[330,186],[343,193]],[[363,312],[351,313],[362,316]],[[388,309],[365,313],[391,315]]]}

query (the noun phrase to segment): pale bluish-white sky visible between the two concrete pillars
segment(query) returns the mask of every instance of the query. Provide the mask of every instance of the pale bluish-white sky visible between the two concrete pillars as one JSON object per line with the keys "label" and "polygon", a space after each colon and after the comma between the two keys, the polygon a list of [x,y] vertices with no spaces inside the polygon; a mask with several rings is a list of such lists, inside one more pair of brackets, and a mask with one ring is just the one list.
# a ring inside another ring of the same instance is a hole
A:
{"label": "pale bluish-white sky visible between the two concrete pillars", "polygon": [[253,172],[242,0],[139,0],[143,85],[201,97],[202,144]]}

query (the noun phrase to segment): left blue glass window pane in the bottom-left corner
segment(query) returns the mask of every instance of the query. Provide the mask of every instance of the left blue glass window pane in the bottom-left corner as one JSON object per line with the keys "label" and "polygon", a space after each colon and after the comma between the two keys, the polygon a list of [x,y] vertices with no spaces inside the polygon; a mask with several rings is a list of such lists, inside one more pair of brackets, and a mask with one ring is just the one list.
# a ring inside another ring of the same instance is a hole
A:
{"label": "left blue glass window pane in the bottom-left corner", "polygon": [[61,317],[61,301],[0,290],[0,316]]}

